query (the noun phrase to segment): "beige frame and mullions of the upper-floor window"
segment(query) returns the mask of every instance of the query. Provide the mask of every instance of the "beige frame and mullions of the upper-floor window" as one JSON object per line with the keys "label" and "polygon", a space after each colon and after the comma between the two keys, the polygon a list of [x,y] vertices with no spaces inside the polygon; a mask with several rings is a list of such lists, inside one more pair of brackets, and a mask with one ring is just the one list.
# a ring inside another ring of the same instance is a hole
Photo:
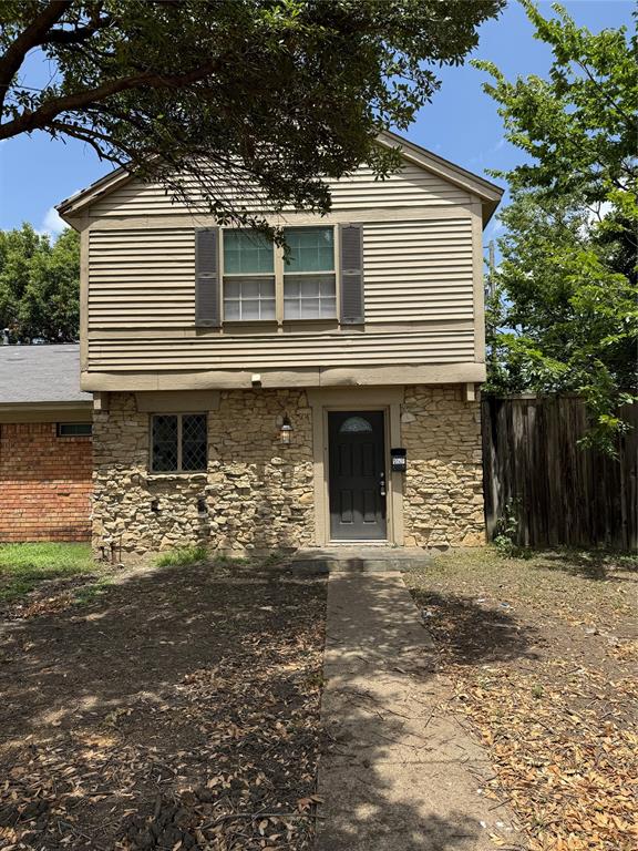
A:
{"label": "beige frame and mullions of the upper-floor window", "polygon": [[[308,229],[310,227],[325,227],[325,228],[331,228],[332,229],[332,246],[335,252],[335,268],[330,271],[295,271],[295,273],[286,273],[285,271],[285,263],[284,263],[284,248],[278,245],[272,246],[272,259],[274,259],[274,276],[275,276],[275,319],[226,319],[225,316],[225,298],[224,298],[224,281],[226,278],[246,278],[246,277],[263,277],[263,278],[271,278],[272,273],[229,273],[226,274],[224,269],[224,238],[226,236],[226,233],[228,230],[237,230],[239,228],[236,227],[222,227],[220,228],[220,248],[219,248],[219,263],[220,263],[220,278],[222,278],[222,324],[223,325],[271,325],[277,324],[277,326],[281,327],[284,324],[286,325],[297,325],[297,324],[337,324],[339,321],[339,228],[337,225],[331,224],[310,224],[306,223],[303,225],[286,225],[287,230],[292,230],[294,228],[299,228],[300,230]],[[286,319],[284,317],[284,276],[286,274],[290,275],[335,275],[335,316],[331,317],[319,317],[315,319]]]}

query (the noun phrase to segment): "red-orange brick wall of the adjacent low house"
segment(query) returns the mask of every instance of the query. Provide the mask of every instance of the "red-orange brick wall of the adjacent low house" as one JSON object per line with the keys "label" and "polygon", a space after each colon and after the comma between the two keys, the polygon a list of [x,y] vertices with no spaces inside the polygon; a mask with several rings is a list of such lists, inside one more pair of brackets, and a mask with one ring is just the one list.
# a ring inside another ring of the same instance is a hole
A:
{"label": "red-orange brick wall of the adjacent low house", "polygon": [[91,455],[54,422],[0,423],[0,542],[89,540]]}

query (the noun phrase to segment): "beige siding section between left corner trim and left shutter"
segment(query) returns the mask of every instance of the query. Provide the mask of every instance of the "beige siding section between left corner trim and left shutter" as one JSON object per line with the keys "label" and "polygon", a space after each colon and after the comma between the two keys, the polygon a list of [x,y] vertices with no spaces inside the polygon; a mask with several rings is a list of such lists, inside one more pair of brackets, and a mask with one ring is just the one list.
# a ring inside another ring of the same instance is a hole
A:
{"label": "beige siding section between left corner trim and left shutter", "polygon": [[89,331],[195,322],[193,228],[91,230]]}

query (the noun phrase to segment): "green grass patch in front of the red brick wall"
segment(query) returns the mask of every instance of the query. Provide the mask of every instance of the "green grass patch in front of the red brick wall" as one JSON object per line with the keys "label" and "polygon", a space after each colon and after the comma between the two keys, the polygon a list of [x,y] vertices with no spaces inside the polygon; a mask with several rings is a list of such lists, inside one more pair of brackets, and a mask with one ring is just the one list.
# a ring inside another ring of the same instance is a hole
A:
{"label": "green grass patch in front of the red brick wall", "polygon": [[0,544],[0,601],[18,599],[45,580],[94,571],[89,544]]}

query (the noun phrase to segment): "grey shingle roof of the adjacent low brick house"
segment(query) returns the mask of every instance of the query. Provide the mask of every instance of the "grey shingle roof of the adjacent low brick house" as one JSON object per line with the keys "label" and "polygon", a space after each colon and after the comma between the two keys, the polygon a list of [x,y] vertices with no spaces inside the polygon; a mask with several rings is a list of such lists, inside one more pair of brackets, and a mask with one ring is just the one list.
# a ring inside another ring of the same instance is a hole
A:
{"label": "grey shingle roof of the adjacent low brick house", "polygon": [[80,346],[0,346],[0,406],[86,402],[80,390]]}

